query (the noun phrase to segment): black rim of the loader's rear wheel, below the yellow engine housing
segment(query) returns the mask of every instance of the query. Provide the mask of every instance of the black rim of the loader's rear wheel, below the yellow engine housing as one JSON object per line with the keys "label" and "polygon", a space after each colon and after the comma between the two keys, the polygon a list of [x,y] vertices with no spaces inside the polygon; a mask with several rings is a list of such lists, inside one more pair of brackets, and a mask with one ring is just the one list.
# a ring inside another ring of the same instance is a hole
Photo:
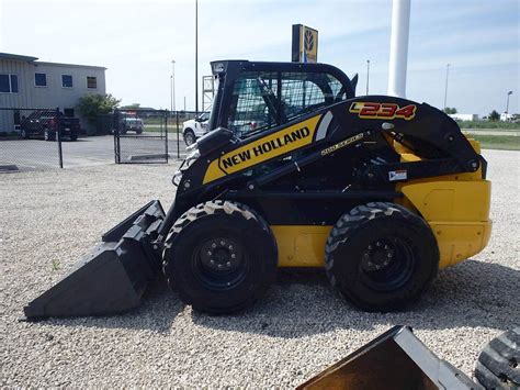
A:
{"label": "black rim of the loader's rear wheel, below the yellow engine housing", "polygon": [[412,248],[405,239],[376,239],[361,254],[361,280],[373,290],[394,291],[410,281],[415,265]]}

